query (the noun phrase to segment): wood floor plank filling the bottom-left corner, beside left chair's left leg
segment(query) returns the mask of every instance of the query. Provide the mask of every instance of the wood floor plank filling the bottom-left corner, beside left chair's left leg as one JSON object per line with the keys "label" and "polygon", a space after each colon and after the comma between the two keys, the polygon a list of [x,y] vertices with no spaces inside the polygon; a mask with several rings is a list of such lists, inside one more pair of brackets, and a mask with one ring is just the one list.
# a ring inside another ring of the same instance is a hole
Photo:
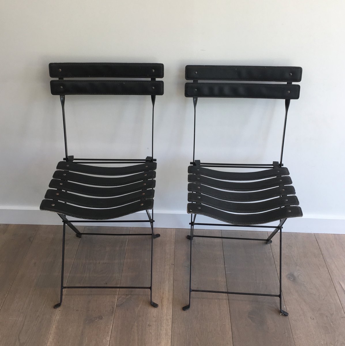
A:
{"label": "wood floor plank filling the bottom-left corner, beside left chair's left leg", "polygon": [[[80,238],[66,232],[65,273]],[[46,345],[60,297],[62,226],[40,226],[0,310],[0,345]]]}

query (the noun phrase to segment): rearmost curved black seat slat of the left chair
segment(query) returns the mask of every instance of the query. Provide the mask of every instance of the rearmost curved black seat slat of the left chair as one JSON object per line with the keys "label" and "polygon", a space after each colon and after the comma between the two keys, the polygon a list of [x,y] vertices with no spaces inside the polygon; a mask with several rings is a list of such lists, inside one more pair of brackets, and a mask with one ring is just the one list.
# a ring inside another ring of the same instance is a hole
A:
{"label": "rearmost curved black seat slat of the left chair", "polygon": [[157,168],[157,162],[146,162],[139,165],[132,165],[127,167],[100,167],[100,166],[89,166],[75,162],[60,161],[56,169],[73,171],[85,174],[94,175],[127,175],[139,172],[148,172]]}

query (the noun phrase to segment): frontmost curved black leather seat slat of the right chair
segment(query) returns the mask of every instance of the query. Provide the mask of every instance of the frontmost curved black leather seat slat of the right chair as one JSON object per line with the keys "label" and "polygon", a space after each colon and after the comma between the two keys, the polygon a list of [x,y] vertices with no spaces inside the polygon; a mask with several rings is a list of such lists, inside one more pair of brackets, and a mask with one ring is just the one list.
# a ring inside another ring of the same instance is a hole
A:
{"label": "frontmost curved black leather seat slat of the right chair", "polygon": [[303,216],[301,208],[297,206],[283,207],[258,214],[240,215],[228,213],[199,203],[188,203],[187,212],[189,214],[195,213],[209,216],[235,225],[260,225],[285,218]]}

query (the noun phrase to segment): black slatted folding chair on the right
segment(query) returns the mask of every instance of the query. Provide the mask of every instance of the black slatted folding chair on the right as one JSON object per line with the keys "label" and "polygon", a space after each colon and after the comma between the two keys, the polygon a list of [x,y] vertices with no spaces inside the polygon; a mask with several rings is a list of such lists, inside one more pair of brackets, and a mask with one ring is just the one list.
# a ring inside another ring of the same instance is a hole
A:
{"label": "black slatted folding chair on the right", "polygon": [[[288,315],[286,311],[282,310],[281,306],[281,230],[287,218],[301,217],[302,210],[298,207],[299,202],[295,196],[295,189],[290,185],[292,181],[288,169],[283,167],[282,157],[290,100],[299,98],[300,87],[297,84],[292,84],[292,82],[299,82],[301,75],[301,67],[186,66],[186,80],[193,80],[193,82],[185,84],[185,96],[192,97],[194,103],[194,144],[193,162],[188,167],[188,202],[190,203],[187,204],[187,212],[191,214],[190,235],[187,236],[190,239],[189,303],[183,307],[183,310],[189,309],[192,292],[212,292],[278,297],[282,315]],[[200,83],[200,80],[239,81],[240,83]],[[243,83],[244,81],[255,83]],[[286,82],[287,84],[256,83],[259,81]],[[272,164],[233,164],[195,160],[195,114],[199,97],[284,99],[285,121],[280,162],[273,161]],[[225,172],[215,170],[215,167],[264,170]],[[204,215],[226,223],[197,223],[195,222],[197,215]],[[262,224],[272,221],[279,221],[279,224],[277,226],[262,226]],[[266,229],[273,228],[273,232],[265,239],[204,236],[194,234],[194,226],[196,225],[262,227]],[[270,244],[272,243],[271,239],[278,231],[280,233],[279,294],[192,289],[192,240],[194,237],[258,240]]]}

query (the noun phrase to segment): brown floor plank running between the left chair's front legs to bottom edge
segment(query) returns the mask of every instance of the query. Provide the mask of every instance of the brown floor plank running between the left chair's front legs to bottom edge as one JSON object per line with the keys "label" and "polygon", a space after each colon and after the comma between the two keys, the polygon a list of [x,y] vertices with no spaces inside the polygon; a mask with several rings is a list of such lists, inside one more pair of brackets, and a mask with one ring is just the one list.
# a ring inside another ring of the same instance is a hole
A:
{"label": "brown floor plank running between the left chair's front legs to bottom edge", "polygon": [[[129,233],[125,227],[85,227],[91,233]],[[128,236],[83,235],[68,286],[119,286]],[[65,289],[48,346],[109,345],[118,289]]]}

